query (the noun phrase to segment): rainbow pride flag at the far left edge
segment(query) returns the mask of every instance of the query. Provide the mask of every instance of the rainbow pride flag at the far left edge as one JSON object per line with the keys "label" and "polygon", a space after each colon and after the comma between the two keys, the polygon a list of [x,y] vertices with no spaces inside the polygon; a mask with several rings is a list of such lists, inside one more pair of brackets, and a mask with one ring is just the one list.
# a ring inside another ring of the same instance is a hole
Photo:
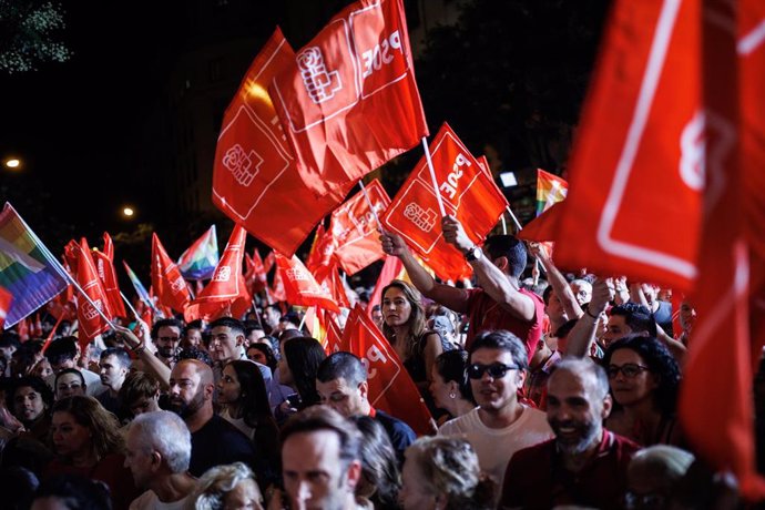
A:
{"label": "rainbow pride flag at the far left edge", "polygon": [[6,202],[0,212],[0,287],[12,296],[6,329],[67,288],[67,273]]}

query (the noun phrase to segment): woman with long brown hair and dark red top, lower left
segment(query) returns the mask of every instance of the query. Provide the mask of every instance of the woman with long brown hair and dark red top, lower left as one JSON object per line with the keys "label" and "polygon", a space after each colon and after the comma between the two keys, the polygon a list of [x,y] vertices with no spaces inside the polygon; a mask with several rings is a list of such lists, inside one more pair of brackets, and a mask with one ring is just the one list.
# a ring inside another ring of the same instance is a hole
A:
{"label": "woman with long brown hair and dark red top, lower left", "polygon": [[109,486],[115,509],[126,509],[140,491],[124,467],[116,417],[93,397],[74,396],[53,405],[51,441],[57,458],[42,478],[80,475]]}

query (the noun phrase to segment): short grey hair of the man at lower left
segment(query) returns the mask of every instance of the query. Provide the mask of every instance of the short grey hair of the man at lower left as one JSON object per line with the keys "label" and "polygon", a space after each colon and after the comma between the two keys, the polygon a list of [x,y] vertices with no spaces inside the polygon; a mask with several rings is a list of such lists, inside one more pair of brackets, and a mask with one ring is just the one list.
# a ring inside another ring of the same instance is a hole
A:
{"label": "short grey hair of the man at lower left", "polygon": [[155,450],[174,473],[188,470],[191,461],[191,432],[175,412],[154,411],[139,415],[130,424],[145,450]]}

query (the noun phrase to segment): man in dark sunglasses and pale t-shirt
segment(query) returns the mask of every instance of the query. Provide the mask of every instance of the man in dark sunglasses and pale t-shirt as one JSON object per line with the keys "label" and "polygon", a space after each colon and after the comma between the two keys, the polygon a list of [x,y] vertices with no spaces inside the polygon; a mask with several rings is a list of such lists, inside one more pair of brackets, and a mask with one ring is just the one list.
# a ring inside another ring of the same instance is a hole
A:
{"label": "man in dark sunglasses and pale t-shirt", "polygon": [[439,429],[443,436],[461,436],[470,441],[481,470],[500,486],[516,451],[553,437],[544,412],[518,401],[528,367],[526,347],[512,333],[480,333],[468,359],[468,377],[478,407]]}

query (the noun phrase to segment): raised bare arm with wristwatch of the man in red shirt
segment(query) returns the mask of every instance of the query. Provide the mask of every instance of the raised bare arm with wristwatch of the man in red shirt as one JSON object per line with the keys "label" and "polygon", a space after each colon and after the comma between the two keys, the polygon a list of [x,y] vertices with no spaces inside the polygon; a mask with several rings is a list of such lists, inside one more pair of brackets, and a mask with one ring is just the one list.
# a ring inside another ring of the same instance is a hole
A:
{"label": "raised bare arm with wristwatch of the man in red shirt", "polygon": [[[456,217],[445,216],[441,221],[441,226],[443,227],[443,239],[462,254],[467,254],[476,247],[476,244],[470,241],[470,237],[465,233],[462,224]],[[521,320],[533,320],[536,314],[534,303],[529,296],[524,296],[519,292],[517,282],[511,280],[486,254],[471,257],[468,262],[476,273],[478,283],[489,297],[499,303],[502,308],[514,317]],[[506,257],[500,257],[497,262],[502,268],[508,264]]]}

